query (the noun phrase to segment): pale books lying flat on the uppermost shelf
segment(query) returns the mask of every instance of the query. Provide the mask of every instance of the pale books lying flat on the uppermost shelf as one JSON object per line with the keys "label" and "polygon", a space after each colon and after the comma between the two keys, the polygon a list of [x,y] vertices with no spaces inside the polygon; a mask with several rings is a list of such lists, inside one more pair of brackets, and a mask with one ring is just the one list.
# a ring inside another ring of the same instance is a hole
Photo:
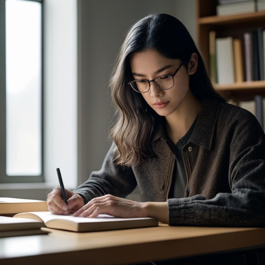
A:
{"label": "pale books lying flat on the uppermost shelf", "polygon": [[[255,1],[218,0],[218,4],[219,5],[216,6],[216,14],[218,16],[237,15],[237,14],[244,14],[244,13],[250,13],[250,12],[257,11],[257,5]],[[262,8],[262,4],[261,4],[261,7],[259,8]]]}

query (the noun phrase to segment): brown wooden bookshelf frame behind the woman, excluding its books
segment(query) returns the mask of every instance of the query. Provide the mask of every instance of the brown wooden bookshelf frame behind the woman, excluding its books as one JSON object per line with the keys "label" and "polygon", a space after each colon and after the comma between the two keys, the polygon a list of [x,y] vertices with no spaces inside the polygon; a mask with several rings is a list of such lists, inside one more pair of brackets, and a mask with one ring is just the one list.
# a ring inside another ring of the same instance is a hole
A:
{"label": "brown wooden bookshelf frame behind the woman, excluding its books", "polygon": [[[231,36],[241,39],[255,27],[265,29],[265,11],[240,15],[217,16],[217,0],[196,1],[197,41],[205,63],[209,67],[209,32],[214,30],[217,38]],[[244,50],[244,47],[242,47]],[[244,57],[244,56],[243,56]],[[243,58],[244,60],[244,58]],[[245,67],[244,67],[245,68]],[[217,91],[228,92],[237,101],[254,100],[255,95],[265,97],[265,81],[236,82],[225,85],[215,84]]]}

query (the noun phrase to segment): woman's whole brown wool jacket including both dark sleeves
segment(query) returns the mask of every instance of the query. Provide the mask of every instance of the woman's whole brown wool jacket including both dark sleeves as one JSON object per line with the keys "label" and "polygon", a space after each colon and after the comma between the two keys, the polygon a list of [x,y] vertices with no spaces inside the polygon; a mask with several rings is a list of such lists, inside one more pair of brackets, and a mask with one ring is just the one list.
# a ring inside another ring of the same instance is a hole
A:
{"label": "woman's whole brown wool jacket including both dark sleeves", "polygon": [[142,201],[167,201],[169,225],[265,226],[265,135],[252,113],[217,99],[202,100],[182,149],[183,198],[168,199],[175,158],[160,129],[152,147],[158,158],[121,167],[112,162],[112,143],[101,169],[74,191],[87,203],[105,194],[124,198],[138,184]]}

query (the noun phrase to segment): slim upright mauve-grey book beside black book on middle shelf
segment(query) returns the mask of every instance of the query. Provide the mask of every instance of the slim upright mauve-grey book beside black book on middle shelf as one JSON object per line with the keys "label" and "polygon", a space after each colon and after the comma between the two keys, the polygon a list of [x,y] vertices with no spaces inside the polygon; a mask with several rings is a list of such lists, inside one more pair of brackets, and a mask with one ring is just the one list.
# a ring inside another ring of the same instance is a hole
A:
{"label": "slim upright mauve-grey book beside black book on middle shelf", "polygon": [[253,52],[252,38],[249,32],[244,33],[244,49],[245,49],[245,77],[246,81],[253,81]]}

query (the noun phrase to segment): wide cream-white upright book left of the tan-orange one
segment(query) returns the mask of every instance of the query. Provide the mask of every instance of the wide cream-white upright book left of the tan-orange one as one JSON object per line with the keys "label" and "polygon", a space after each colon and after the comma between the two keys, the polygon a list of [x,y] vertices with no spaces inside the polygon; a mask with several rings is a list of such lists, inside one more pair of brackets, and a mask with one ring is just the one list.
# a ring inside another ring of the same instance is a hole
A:
{"label": "wide cream-white upright book left of the tan-orange one", "polygon": [[218,84],[235,82],[233,38],[216,39]]}

